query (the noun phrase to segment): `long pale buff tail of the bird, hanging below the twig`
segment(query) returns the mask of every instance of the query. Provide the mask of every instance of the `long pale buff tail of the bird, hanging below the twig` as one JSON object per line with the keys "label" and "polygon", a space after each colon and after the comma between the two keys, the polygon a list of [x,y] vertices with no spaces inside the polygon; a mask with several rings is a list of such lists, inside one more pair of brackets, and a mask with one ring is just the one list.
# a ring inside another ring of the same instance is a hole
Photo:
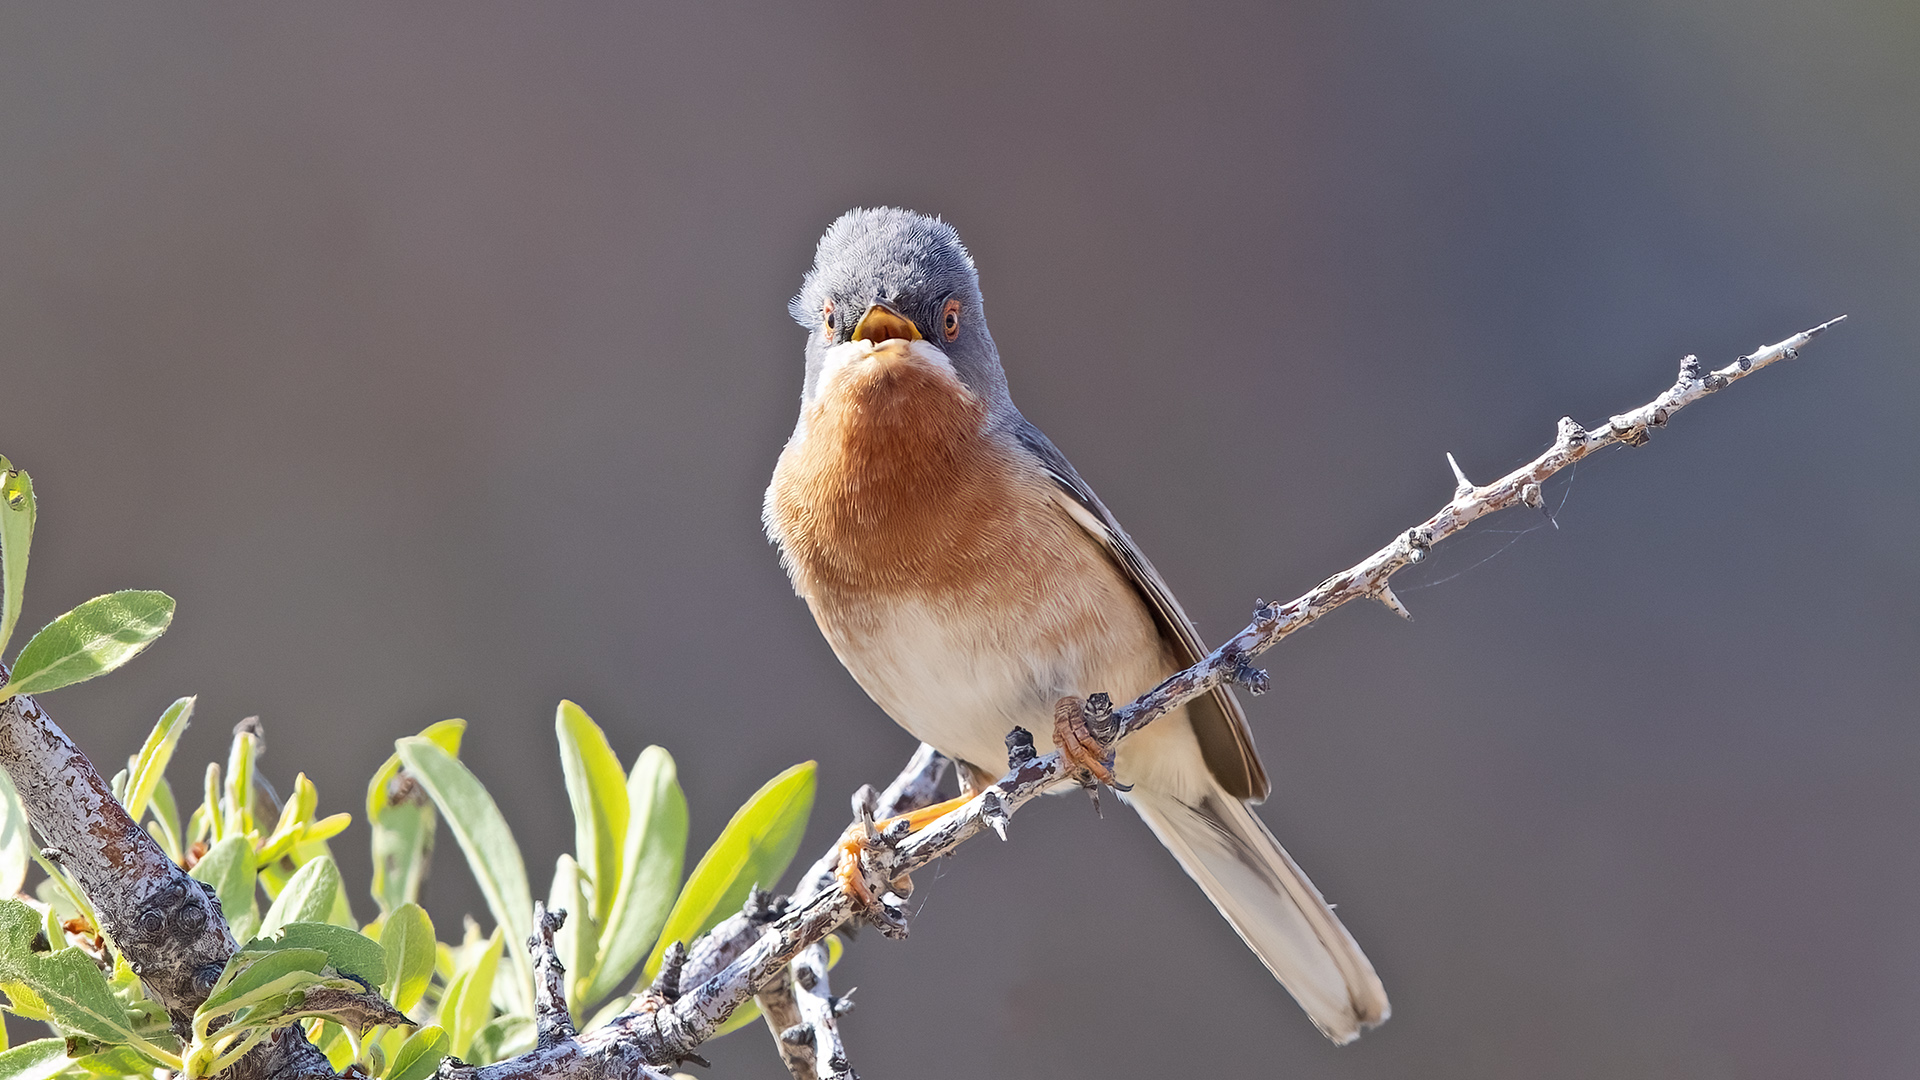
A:
{"label": "long pale buff tail of the bird, hanging below the twig", "polygon": [[1367,955],[1240,799],[1215,790],[1190,805],[1137,788],[1127,801],[1321,1034],[1348,1043],[1388,1017],[1386,988]]}

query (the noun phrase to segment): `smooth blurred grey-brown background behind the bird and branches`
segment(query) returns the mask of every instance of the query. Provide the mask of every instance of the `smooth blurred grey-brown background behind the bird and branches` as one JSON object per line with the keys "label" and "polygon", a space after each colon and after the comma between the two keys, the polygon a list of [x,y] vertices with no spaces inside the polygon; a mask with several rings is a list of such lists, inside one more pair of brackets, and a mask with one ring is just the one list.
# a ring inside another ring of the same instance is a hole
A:
{"label": "smooth blurred grey-brown background behind the bird and branches", "polygon": [[[1379,1032],[1327,1045],[1081,798],[835,982],[868,1076],[1920,1061],[1914,4],[8,4],[0,100],[27,623],[179,600],[54,715],[111,761],[200,694],[190,784],[259,713],[355,815],[467,717],[536,892],[563,696],[674,751],[695,853],[808,757],[818,851],[912,746],[758,527],[849,206],[958,225],[1016,400],[1213,638],[1438,507],[1444,452],[1492,479],[1847,311],[1555,482],[1559,530],[1400,578],[1415,623],[1267,655],[1263,813]],[[451,842],[430,907],[484,911]],[[758,1028],[708,1049],[781,1074]]]}

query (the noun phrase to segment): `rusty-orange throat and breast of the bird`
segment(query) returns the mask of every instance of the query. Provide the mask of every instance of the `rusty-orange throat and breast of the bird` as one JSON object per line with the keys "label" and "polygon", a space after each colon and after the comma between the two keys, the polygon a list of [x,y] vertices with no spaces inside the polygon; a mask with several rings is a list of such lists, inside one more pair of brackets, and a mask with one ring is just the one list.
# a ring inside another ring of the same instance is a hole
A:
{"label": "rusty-orange throat and breast of the bird", "polygon": [[902,344],[826,371],[768,492],[799,590],[925,592],[975,577],[1012,482],[985,429],[985,402]]}

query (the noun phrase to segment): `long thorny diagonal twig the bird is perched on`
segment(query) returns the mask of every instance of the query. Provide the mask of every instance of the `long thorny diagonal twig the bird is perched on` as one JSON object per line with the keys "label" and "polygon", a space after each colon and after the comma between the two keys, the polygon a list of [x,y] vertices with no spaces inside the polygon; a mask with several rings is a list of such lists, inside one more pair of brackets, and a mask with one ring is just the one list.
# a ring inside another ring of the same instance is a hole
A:
{"label": "long thorny diagonal twig the bird is perched on", "polygon": [[[1588,457],[1596,450],[1615,444],[1645,444],[1651,429],[1667,425],[1684,405],[1722,390],[1753,371],[1780,359],[1791,359],[1814,334],[1837,321],[1822,323],[1784,342],[1755,350],[1711,373],[1703,373],[1695,357],[1686,357],[1680,363],[1678,380],[1645,405],[1611,417],[1594,430],[1586,430],[1572,419],[1561,419],[1551,448],[1492,484],[1473,484],[1450,457],[1455,490],[1453,498],[1438,513],[1405,530],[1392,544],[1361,559],[1352,569],[1327,578],[1311,592],[1288,603],[1261,603],[1254,615],[1254,623],[1227,644],[1213,650],[1200,663],[1175,673],[1129,705],[1116,709],[1112,715],[1112,742],[1129,738],[1154,719],[1223,682],[1244,684],[1256,694],[1265,690],[1265,673],[1252,667],[1250,657],[1275,646],[1294,630],[1315,623],[1342,603],[1375,598],[1388,609],[1405,615],[1405,607],[1388,588],[1388,578],[1404,567],[1421,561],[1434,544],[1440,544],[1488,513],[1513,505],[1544,505],[1540,484],[1548,477]],[[916,755],[914,763],[895,780],[889,792],[895,788],[922,790],[929,767],[937,765],[935,757],[929,755],[927,748],[922,748],[922,753]],[[1008,763],[1012,771],[1000,782],[979,792],[973,799],[920,832],[897,834],[895,830],[887,830],[885,834],[877,834],[862,853],[858,867],[868,888],[876,896],[893,888],[910,890],[906,874],[912,871],[950,853],[983,828],[993,828],[1004,838],[1008,819],[1021,805],[1056,786],[1079,782],[1058,753],[1037,755],[1033,738],[1020,728],[1014,728],[1008,736]],[[925,788],[931,786],[927,784]],[[877,809],[874,803],[877,801],[856,798],[856,822],[870,822]],[[812,959],[804,961],[804,969],[793,969],[791,965],[803,957],[812,957],[810,949],[843,922],[872,919],[879,922],[881,930],[904,932],[904,922],[899,920],[893,909],[854,909],[849,892],[831,882],[837,859],[839,853],[835,849],[816,863],[808,876],[803,878],[803,888],[795,901],[764,928],[755,932],[753,920],[739,917],[735,917],[739,919],[737,922],[728,920],[714,926],[708,938],[726,940],[703,940],[695,947],[705,949],[707,955],[716,959],[730,957],[728,963],[716,970],[708,969],[710,974],[703,972],[697,984],[684,978],[676,1001],[660,1001],[651,1009],[626,1013],[563,1047],[543,1047],[513,1061],[470,1070],[474,1080],[559,1080],[572,1076],[595,1080],[609,1076],[609,1068],[614,1063],[647,1061],[651,1065],[672,1065],[710,1038],[720,1022],[756,990],[776,978],[789,978],[789,970],[812,970]],[[816,980],[816,986],[824,988],[824,982]],[[795,980],[793,997],[795,1007],[806,1022],[816,1022],[806,1013],[806,997],[801,994],[799,980]],[[831,1005],[828,1011],[831,1013]],[[818,1040],[818,1030],[810,1034],[810,1040]],[[822,1043],[816,1042],[816,1045]],[[837,1040],[833,1045],[837,1045]],[[822,1057],[816,1051],[814,1068],[831,1068]],[[841,1061],[845,1061],[845,1055]],[[795,1074],[799,1076],[799,1072]]]}

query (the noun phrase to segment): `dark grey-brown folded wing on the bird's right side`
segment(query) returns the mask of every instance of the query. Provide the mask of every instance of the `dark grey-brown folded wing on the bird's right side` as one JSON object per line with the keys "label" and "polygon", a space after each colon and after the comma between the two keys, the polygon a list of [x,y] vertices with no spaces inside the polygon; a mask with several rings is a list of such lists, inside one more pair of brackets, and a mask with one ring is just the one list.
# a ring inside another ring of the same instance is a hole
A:
{"label": "dark grey-brown folded wing on the bird's right side", "polygon": [[[1192,619],[1181,609],[1181,601],[1173,600],[1173,590],[1167,588],[1160,571],[1146,561],[1146,555],[1127,536],[1127,530],[1114,521],[1114,513],[1106,509],[1100,496],[1092,494],[1087,480],[1073,471],[1073,463],[1068,461],[1066,454],[1060,454],[1060,448],[1023,417],[1014,429],[1014,438],[1039,457],[1041,465],[1052,477],[1060,507],[1106,548],[1119,571],[1139,590],[1140,600],[1146,601],[1148,611],[1154,613],[1154,621],[1160,625],[1160,636],[1173,648],[1181,663],[1190,665],[1200,661],[1208,653],[1208,648],[1200,642],[1200,632],[1194,630]],[[1206,757],[1213,778],[1233,796],[1250,801],[1265,799],[1271,790],[1267,771],[1260,765],[1260,753],[1254,749],[1254,732],[1246,726],[1246,713],[1240,711],[1240,701],[1233,698],[1233,690],[1215,686],[1206,696],[1194,698],[1187,703],[1187,717],[1192,723],[1194,736],[1200,740],[1200,753]]]}

